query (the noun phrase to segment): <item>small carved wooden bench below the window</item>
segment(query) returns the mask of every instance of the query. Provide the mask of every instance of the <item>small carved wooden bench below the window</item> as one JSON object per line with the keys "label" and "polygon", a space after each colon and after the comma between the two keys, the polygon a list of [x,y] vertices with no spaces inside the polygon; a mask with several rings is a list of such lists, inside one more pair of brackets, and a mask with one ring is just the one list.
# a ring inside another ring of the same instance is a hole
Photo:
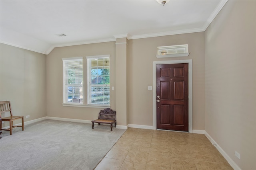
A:
{"label": "small carved wooden bench below the window", "polygon": [[116,127],[116,111],[110,108],[101,110],[98,119],[92,121],[92,129],[94,129],[94,123],[98,123],[98,125],[100,125],[100,123],[110,124],[110,131],[112,131],[113,124],[115,124]]}

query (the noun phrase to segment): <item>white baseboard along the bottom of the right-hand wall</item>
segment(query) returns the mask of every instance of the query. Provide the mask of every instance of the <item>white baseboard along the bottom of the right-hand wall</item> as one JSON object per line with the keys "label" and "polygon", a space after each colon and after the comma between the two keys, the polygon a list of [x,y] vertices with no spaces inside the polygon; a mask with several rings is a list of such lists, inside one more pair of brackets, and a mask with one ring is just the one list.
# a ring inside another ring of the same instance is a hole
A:
{"label": "white baseboard along the bottom of the right-hand wall", "polygon": [[241,170],[241,168],[228,156],[228,154],[212,139],[212,137],[205,131],[204,135],[209,139],[209,141],[216,147],[216,149],[222,154],[222,156],[228,161],[230,166],[234,168],[234,170]]}

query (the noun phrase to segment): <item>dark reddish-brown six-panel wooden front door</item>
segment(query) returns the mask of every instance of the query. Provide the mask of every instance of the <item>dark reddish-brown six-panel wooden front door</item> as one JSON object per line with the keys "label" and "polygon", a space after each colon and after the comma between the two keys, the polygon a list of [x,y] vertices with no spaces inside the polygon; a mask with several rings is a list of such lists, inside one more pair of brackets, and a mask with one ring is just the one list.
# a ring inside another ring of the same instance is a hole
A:
{"label": "dark reddish-brown six-panel wooden front door", "polygon": [[156,128],[188,131],[188,63],[156,65]]}

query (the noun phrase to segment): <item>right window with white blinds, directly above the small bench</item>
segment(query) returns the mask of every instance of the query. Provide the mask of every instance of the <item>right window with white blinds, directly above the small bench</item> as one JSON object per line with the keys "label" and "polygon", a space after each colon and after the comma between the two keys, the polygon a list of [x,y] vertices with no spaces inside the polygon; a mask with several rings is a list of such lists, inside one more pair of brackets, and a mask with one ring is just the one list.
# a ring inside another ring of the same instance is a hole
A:
{"label": "right window with white blinds, directly above the small bench", "polygon": [[110,55],[88,56],[87,59],[87,103],[110,104]]}

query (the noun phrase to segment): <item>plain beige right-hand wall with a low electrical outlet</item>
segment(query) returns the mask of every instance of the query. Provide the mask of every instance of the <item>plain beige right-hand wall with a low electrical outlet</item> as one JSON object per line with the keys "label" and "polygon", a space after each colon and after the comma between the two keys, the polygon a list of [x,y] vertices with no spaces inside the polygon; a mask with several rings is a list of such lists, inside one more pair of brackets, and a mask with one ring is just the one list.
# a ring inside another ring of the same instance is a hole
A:
{"label": "plain beige right-hand wall with a low electrical outlet", "polygon": [[256,1],[228,1],[205,32],[205,130],[242,170],[256,169],[255,24]]}

